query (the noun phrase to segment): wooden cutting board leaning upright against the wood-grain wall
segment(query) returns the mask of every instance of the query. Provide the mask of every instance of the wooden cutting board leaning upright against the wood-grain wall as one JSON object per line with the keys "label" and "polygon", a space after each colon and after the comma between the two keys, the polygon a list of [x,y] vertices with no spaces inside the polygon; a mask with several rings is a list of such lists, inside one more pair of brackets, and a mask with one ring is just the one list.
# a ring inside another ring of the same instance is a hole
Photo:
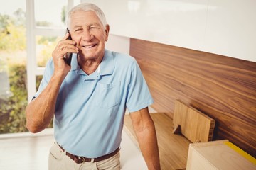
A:
{"label": "wooden cutting board leaning upright against the wood-grain wall", "polygon": [[181,126],[181,134],[191,142],[213,139],[215,120],[178,100],[175,102],[173,123],[174,127]]}

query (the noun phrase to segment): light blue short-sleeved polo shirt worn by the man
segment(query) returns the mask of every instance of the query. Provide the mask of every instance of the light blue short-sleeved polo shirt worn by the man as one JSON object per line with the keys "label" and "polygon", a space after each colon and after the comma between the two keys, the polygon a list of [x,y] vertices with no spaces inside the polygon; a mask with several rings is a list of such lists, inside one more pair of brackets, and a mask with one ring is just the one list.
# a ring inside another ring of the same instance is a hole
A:
{"label": "light blue short-sleeved polo shirt worn by the man", "polygon": [[[53,69],[50,59],[35,97],[47,86]],[[109,154],[120,146],[126,108],[134,112],[152,103],[133,57],[105,50],[100,67],[87,75],[73,54],[55,106],[55,140],[78,156],[95,158]]]}

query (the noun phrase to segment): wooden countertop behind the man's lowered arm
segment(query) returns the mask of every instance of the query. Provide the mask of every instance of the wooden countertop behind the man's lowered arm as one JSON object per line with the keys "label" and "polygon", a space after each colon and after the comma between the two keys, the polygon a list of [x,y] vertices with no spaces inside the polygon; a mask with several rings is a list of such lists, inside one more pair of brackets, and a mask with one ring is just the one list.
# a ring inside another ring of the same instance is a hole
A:
{"label": "wooden countertop behind the man's lowered arm", "polygon": [[[172,119],[165,113],[151,113],[150,115],[156,127],[161,169],[186,169],[188,146],[191,142],[183,135],[175,135],[171,132],[173,130]],[[124,130],[139,148],[129,115],[124,116]]]}

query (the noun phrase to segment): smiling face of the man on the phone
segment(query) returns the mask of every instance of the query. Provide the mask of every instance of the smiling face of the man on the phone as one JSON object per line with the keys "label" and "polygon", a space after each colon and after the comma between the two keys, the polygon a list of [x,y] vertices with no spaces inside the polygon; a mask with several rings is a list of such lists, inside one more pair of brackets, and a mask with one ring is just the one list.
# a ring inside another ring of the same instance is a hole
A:
{"label": "smiling face of the man on the phone", "polygon": [[108,33],[109,26],[104,28],[93,11],[76,11],[70,16],[70,34],[80,60],[102,60]]}

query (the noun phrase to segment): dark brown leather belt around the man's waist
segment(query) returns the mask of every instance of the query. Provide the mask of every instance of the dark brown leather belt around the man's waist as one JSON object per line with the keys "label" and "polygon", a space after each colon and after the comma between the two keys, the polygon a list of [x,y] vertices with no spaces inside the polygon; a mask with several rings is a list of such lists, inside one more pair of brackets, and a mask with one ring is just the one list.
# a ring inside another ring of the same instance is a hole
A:
{"label": "dark brown leather belt around the man's waist", "polygon": [[[60,147],[60,149],[62,149],[63,152],[65,152],[65,149],[63,149],[63,147]],[[114,152],[111,152],[110,154],[105,154],[102,157],[97,158],[79,157],[77,155],[70,154],[69,152],[66,152],[66,155],[70,157],[70,159],[72,159],[75,163],[81,164],[82,162],[100,162],[110,157],[113,157],[115,154],[117,154],[117,152],[119,152],[119,148],[115,149]]]}

